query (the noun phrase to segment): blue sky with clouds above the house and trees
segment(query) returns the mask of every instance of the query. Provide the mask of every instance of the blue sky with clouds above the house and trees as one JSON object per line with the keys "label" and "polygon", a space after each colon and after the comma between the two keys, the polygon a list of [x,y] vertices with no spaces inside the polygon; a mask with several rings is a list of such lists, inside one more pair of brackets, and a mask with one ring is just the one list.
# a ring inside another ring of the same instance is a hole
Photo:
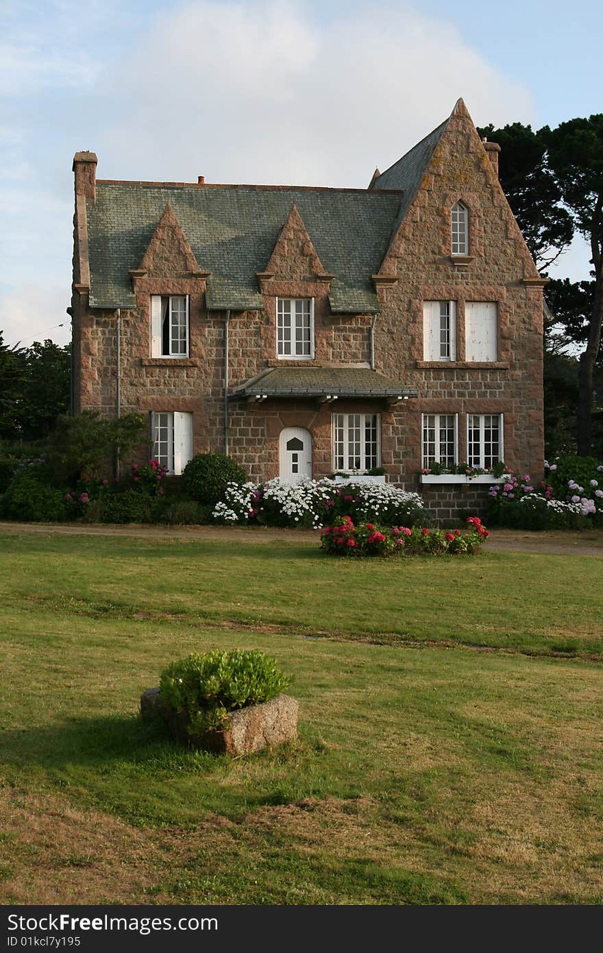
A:
{"label": "blue sky with clouds above the house and trees", "polygon": [[70,339],[74,152],[99,178],[366,188],[459,96],[478,126],[603,112],[602,36],[595,0],[0,0],[5,343]]}

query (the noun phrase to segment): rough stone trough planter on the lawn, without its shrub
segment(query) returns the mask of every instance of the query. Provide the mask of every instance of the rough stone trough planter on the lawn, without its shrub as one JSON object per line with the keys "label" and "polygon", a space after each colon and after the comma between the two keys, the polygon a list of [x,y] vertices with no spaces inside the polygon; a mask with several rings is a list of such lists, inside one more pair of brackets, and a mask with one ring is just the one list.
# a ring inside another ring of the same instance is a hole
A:
{"label": "rough stone trough planter on the lawn, without its shrub", "polygon": [[174,715],[162,702],[159,688],[148,689],[140,699],[140,714],[144,719],[160,715],[168,724],[172,736],[188,747],[201,748],[232,758],[250,755],[265,747],[275,747],[297,738],[299,704],[289,695],[277,695],[271,701],[249,705],[231,712],[222,731],[204,735],[190,735],[186,716]]}

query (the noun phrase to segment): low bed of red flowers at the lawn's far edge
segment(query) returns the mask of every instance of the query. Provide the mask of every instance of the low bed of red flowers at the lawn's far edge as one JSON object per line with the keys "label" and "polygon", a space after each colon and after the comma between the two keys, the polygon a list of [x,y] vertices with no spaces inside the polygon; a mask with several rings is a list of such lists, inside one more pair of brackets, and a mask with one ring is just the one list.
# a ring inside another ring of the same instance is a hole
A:
{"label": "low bed of red flowers at the lawn's far edge", "polygon": [[490,536],[479,517],[469,517],[466,529],[436,530],[427,526],[354,525],[341,517],[321,533],[321,548],[330,556],[473,556]]}

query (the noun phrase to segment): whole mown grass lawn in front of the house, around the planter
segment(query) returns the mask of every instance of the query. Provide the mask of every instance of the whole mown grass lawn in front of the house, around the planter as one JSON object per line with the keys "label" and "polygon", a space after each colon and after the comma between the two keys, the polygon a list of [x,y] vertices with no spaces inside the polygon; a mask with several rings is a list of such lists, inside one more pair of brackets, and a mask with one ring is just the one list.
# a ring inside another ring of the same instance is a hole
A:
{"label": "whole mown grass lawn in front of the house, around the planter", "polygon": [[[0,901],[603,902],[600,558],[49,534],[0,562]],[[140,722],[217,646],[294,674],[297,742]]]}

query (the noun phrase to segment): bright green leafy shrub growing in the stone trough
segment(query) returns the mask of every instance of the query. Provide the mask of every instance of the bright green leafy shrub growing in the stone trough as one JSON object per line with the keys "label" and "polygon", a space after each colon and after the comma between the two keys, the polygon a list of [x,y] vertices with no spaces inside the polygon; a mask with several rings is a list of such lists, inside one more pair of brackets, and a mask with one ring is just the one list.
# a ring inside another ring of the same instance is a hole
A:
{"label": "bright green leafy shrub growing in the stone trough", "polygon": [[270,701],[291,684],[275,659],[258,649],[192,653],[161,673],[161,700],[186,721],[190,735],[219,730],[228,713]]}

